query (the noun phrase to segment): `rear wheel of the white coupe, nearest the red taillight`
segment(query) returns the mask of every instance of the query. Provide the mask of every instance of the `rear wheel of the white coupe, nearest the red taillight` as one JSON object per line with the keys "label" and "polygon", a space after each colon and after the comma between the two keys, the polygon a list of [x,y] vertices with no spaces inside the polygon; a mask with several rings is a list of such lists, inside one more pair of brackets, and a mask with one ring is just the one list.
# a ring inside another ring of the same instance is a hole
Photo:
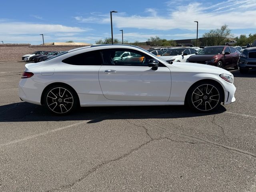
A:
{"label": "rear wheel of the white coupe, nearest the red taillight", "polygon": [[44,105],[53,114],[70,114],[78,106],[77,94],[68,86],[50,86],[44,92]]}

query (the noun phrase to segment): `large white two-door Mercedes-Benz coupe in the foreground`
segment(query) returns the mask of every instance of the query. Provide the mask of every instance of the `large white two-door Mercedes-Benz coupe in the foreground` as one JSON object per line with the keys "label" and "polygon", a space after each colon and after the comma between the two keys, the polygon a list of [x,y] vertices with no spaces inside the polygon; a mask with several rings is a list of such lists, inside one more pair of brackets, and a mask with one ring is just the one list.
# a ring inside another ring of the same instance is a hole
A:
{"label": "large white two-door Mercedes-Benz coupe in the foreground", "polygon": [[[120,57],[130,52],[130,57]],[[44,62],[25,65],[21,100],[44,105],[54,114],[78,106],[188,104],[210,112],[236,99],[234,76],[215,66],[171,62],[130,45],[77,48]]]}

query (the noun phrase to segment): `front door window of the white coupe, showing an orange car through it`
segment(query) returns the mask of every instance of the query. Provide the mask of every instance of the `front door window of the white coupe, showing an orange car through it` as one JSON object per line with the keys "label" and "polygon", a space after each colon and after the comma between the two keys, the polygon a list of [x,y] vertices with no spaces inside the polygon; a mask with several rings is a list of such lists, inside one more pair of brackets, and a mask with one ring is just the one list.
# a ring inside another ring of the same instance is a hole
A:
{"label": "front door window of the white coupe, showing an orange car through it", "polygon": [[[128,57],[115,57],[116,52],[130,52],[131,56]],[[148,61],[152,57],[138,52],[136,50],[124,50],[124,49],[111,49],[103,50],[102,56],[104,65],[117,65],[117,66],[148,66]]]}

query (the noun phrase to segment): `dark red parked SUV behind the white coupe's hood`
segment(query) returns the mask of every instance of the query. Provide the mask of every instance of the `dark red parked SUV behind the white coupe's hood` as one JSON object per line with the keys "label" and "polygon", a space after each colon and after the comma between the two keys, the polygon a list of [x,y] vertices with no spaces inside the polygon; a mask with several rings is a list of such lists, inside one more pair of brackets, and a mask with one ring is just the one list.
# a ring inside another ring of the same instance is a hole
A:
{"label": "dark red parked SUV behind the white coupe's hood", "polygon": [[220,68],[239,69],[238,59],[241,53],[230,46],[210,46],[190,56],[186,62],[213,65]]}

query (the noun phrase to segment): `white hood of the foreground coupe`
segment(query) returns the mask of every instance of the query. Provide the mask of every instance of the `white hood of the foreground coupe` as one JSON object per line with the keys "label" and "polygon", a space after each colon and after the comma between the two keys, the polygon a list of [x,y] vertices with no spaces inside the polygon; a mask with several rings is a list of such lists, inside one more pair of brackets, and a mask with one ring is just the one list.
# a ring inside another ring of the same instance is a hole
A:
{"label": "white hood of the foreground coupe", "polygon": [[183,69],[184,71],[187,71],[187,72],[207,72],[212,74],[229,74],[233,76],[232,73],[230,73],[225,69],[222,69],[216,66],[206,65],[206,64],[173,62],[171,65],[176,68]]}

